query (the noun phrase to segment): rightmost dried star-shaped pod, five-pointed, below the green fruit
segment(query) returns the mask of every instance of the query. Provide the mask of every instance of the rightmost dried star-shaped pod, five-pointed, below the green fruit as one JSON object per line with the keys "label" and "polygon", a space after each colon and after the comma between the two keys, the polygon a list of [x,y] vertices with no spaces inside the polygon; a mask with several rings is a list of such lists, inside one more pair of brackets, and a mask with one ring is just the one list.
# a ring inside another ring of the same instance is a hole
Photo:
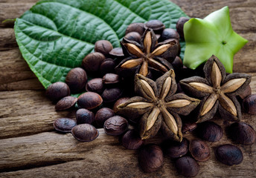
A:
{"label": "rightmost dried star-shaped pod, five-pointed, below the green fruit", "polygon": [[204,66],[205,79],[193,76],[180,81],[182,88],[193,96],[203,97],[197,122],[212,119],[219,108],[220,115],[231,121],[240,120],[241,108],[235,96],[246,89],[252,76],[246,73],[226,75],[225,67],[211,56]]}

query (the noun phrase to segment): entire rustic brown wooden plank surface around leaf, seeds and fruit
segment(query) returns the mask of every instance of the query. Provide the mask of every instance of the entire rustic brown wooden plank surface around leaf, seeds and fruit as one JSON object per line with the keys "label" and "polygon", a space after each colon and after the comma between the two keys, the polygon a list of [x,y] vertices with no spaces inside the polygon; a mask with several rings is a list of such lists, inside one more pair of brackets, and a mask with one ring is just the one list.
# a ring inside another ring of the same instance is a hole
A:
{"label": "entire rustic brown wooden plank surface around leaf, seeds and fruit", "polygon": [[[173,0],[188,16],[203,18],[228,5],[234,30],[248,44],[234,57],[234,71],[252,74],[256,93],[256,1],[255,0]],[[0,177],[180,177],[173,161],[164,158],[160,171],[144,174],[138,166],[137,151],[119,145],[118,138],[100,136],[89,143],[78,142],[68,134],[54,131],[59,117],[74,118],[74,112],[54,111],[45,90],[31,72],[16,44],[14,19],[36,0],[0,0]],[[225,128],[225,122],[215,120]],[[243,114],[243,121],[256,128],[255,116]],[[192,139],[191,134],[185,135]],[[242,164],[226,166],[217,162],[214,146],[231,143],[225,136],[210,143],[211,159],[199,162],[197,177],[255,177],[256,146],[238,145],[244,154]]]}

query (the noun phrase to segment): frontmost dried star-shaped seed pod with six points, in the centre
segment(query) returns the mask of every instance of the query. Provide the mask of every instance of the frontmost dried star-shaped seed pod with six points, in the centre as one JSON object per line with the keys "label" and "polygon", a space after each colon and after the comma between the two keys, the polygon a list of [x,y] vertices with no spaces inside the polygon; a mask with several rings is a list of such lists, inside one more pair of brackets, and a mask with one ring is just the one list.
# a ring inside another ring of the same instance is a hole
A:
{"label": "frontmost dried star-shaped seed pod with six points, in the centre", "polygon": [[179,114],[188,115],[199,99],[193,99],[177,90],[173,70],[164,73],[154,82],[141,74],[135,76],[135,92],[139,96],[118,105],[118,113],[127,116],[142,115],[140,120],[141,139],[149,139],[163,131],[164,136],[182,141],[182,120]]}

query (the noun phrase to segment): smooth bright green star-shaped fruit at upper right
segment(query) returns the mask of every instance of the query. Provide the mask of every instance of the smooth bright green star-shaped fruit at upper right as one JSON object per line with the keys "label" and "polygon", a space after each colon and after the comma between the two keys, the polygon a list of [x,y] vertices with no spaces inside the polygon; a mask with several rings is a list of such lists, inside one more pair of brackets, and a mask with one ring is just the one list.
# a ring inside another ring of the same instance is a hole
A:
{"label": "smooth bright green star-shaped fruit at upper right", "polygon": [[184,36],[185,66],[196,69],[214,55],[227,73],[232,73],[234,54],[248,42],[232,29],[227,6],[205,19],[190,19],[184,25]]}

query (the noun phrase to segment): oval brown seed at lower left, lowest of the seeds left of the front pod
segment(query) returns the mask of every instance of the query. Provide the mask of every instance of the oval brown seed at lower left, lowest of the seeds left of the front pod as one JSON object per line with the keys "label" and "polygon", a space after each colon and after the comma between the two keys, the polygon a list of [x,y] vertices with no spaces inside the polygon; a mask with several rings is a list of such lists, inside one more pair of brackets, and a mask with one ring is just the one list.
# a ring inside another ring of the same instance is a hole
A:
{"label": "oval brown seed at lower left, lowest of the seeds left of the front pod", "polygon": [[97,131],[94,126],[89,124],[74,126],[71,133],[75,139],[81,142],[91,142],[92,140],[95,140],[97,136],[99,136],[99,131]]}

